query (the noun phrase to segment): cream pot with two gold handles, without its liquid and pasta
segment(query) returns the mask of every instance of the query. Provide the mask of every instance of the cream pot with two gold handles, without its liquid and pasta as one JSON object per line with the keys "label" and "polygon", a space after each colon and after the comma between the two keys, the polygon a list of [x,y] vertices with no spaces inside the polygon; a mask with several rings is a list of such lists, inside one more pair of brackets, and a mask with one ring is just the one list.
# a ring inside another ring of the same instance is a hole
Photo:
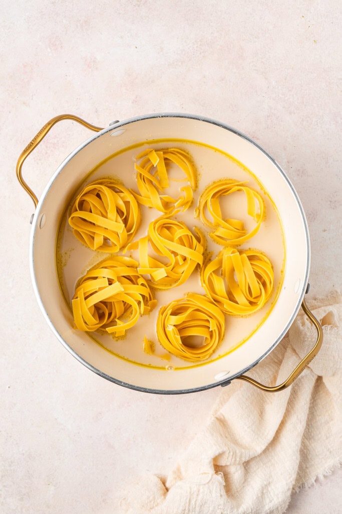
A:
{"label": "cream pot with two gold handles, without its liquid and pasta", "polygon": [[[62,162],[38,200],[22,177],[23,162],[51,127],[63,119],[81,123],[96,134]],[[108,351],[88,333],[75,329],[56,267],[56,241],[61,220],[80,185],[90,181],[87,178],[90,170],[101,170],[102,163],[108,162],[110,156],[133,148],[138,143],[175,138],[219,149],[251,170],[276,206],[283,227],[286,253],[283,276],[272,309],[250,332],[245,342],[208,362],[178,368],[165,362],[160,366],[133,362],[134,359]],[[98,375],[122,386],[152,393],[200,391],[218,385],[226,386],[233,379],[245,380],[259,389],[275,392],[289,387],[319,351],[323,340],[321,326],[304,300],[308,290],[310,246],[303,207],[288,177],[274,159],[234,128],[208,118],[173,113],[115,121],[106,128],[96,127],[72,115],[56,116],[28,144],[18,159],[16,172],[19,182],[35,205],[31,219],[30,272],[39,307],[57,339],[76,359]],[[317,329],[317,340],[312,350],[288,379],[276,386],[266,386],[246,376],[245,373],[264,359],[285,336],[300,306]]]}

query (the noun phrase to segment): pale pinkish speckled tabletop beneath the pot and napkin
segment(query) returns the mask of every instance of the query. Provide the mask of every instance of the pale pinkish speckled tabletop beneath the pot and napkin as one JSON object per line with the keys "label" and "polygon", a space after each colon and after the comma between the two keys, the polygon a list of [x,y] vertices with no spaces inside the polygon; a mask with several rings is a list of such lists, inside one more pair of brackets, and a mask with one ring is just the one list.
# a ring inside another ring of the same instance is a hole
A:
{"label": "pale pinkish speckled tabletop beneath the pot and napkin", "polygon": [[[120,388],[53,336],[30,281],[33,204],[15,178],[17,157],[50,118],[70,112],[106,126],[167,111],[236,127],[275,158],[299,194],[311,236],[310,295],[340,288],[340,3],[251,5],[2,3],[4,514],[119,512],[118,485],[136,473],[167,475],[220,392],[153,396]],[[38,197],[89,135],[64,121],[29,157],[24,175]],[[334,471],[294,494],[288,514],[341,512],[340,478]]]}

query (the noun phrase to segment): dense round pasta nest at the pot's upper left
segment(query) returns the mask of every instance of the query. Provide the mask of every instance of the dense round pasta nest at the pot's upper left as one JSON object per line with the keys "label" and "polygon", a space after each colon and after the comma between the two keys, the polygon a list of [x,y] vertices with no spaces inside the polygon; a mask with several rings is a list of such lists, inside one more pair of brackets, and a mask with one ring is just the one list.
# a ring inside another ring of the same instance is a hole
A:
{"label": "dense round pasta nest at the pot's upper left", "polygon": [[118,252],[141,222],[134,195],[112,180],[90,183],[77,196],[69,217],[75,237],[92,250]]}

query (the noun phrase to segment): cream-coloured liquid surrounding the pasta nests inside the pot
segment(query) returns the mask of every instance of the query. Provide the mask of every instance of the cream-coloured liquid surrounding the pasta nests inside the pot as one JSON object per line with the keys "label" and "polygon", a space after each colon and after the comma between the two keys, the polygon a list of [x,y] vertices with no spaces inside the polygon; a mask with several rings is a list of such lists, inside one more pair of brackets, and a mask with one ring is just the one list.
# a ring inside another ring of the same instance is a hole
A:
{"label": "cream-coloured liquid surrounding the pasta nests inside the pot", "polygon": [[[243,164],[237,162],[231,156],[194,141],[154,140],[144,142],[141,145],[135,145],[134,148],[121,151],[119,154],[114,154],[106,161],[98,164],[98,166],[86,177],[86,180],[79,185],[79,190],[84,187],[85,183],[99,178],[111,177],[123,183],[126,188],[132,188],[134,191],[138,192],[134,171],[136,155],[146,148],[163,149],[172,147],[184,149],[190,153],[198,172],[198,188],[194,192],[193,205],[186,212],[177,214],[175,218],[179,221],[185,222],[190,229],[194,226],[200,228],[207,238],[207,250],[216,254],[222,247],[211,240],[209,236],[210,229],[204,226],[200,219],[195,218],[195,208],[198,205],[199,196],[203,190],[215,180],[233,178],[239,181],[246,181],[246,185],[255,189],[263,197],[266,215],[264,222],[261,223],[260,229],[255,236],[239,248],[255,248],[263,251],[269,257],[274,269],[274,290],[270,300],[262,309],[251,316],[226,316],[224,340],[217,348],[216,352],[203,363],[194,364],[177,357],[170,356],[169,354],[169,361],[162,358],[165,356],[166,351],[162,345],[159,344],[155,330],[156,319],[160,306],[173,300],[182,299],[188,292],[197,292],[199,294],[205,293],[200,284],[198,269],[193,272],[192,276],[185,284],[165,291],[156,290],[155,298],[158,302],[157,307],[149,315],[140,317],[136,325],[127,331],[126,336],[123,339],[116,339],[108,334],[89,333],[90,338],[120,358],[143,366],[176,370],[203,365],[227,355],[248,340],[256,329],[265,322],[272,310],[274,302],[278,296],[281,283],[283,282],[285,243],[276,207],[256,177],[247,170]],[[185,185],[185,183],[181,184],[181,186],[182,185]],[[178,187],[179,182],[176,182],[175,186],[173,186],[173,191],[171,190],[171,195],[172,193],[177,193],[176,188]],[[79,190],[75,191],[75,196]],[[226,198],[227,200],[223,199],[221,202],[223,217],[242,219],[245,223],[245,228],[247,231],[250,231],[255,226],[255,222],[247,215],[247,203],[244,193],[237,192]],[[155,209],[149,209],[144,206],[142,206],[141,209],[143,221],[134,240],[146,235],[147,227],[152,219],[162,215],[162,213]],[[69,210],[70,209],[68,209],[63,216],[57,237],[56,263],[61,289],[71,308],[71,299],[74,294],[74,288],[77,280],[81,278],[89,268],[105,259],[108,254],[104,252],[94,252],[76,240],[68,225]],[[131,255],[133,258],[137,258],[136,252],[134,251],[130,253],[128,252],[126,255]],[[153,355],[149,355],[143,350],[144,336],[154,342]]]}

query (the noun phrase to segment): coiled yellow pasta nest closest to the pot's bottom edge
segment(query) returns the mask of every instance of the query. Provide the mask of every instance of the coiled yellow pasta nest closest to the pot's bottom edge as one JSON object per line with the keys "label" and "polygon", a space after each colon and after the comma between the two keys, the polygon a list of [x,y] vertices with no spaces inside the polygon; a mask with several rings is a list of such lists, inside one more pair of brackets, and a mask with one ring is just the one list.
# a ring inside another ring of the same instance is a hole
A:
{"label": "coiled yellow pasta nest closest to the pot's bottom edge", "polygon": [[[208,359],[222,341],[225,317],[206,296],[189,293],[160,308],[157,336],[164,348],[182,359]],[[197,340],[202,344],[196,344]]]}

